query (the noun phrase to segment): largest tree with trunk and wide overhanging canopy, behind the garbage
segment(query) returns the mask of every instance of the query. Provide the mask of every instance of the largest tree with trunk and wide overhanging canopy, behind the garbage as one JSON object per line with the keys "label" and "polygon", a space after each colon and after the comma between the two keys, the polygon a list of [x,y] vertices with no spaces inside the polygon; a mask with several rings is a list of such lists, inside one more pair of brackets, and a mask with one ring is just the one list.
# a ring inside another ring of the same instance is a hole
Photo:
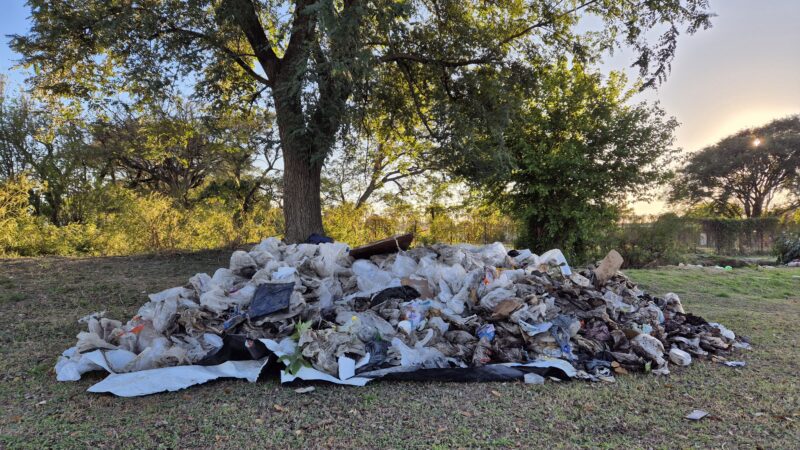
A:
{"label": "largest tree with trunk and wide overhanging canopy, behind the garbage", "polygon": [[[410,99],[402,103],[440,149],[459,151],[473,148],[473,128],[508,123],[504,93],[517,74],[565,54],[591,61],[624,43],[653,84],[668,72],[682,29],[707,27],[710,17],[707,0],[28,3],[32,28],[12,46],[40,88],[141,97],[179,80],[218,102],[266,93],[283,152],[290,241],[323,231],[323,163],[351,113],[382,83],[402,89],[395,95]],[[587,16],[599,26],[579,32]],[[655,41],[648,40],[652,29],[661,33]],[[469,126],[466,119],[476,117]]]}

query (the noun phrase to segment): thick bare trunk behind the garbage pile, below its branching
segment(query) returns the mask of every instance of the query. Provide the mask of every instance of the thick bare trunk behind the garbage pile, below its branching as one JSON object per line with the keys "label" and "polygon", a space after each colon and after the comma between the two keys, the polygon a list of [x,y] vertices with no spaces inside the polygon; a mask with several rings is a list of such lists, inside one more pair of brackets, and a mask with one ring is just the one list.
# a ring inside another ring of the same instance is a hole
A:
{"label": "thick bare trunk behind the garbage pile, below its branching", "polygon": [[303,242],[312,233],[323,233],[320,175],[322,164],[305,152],[283,152],[283,218],[286,242]]}

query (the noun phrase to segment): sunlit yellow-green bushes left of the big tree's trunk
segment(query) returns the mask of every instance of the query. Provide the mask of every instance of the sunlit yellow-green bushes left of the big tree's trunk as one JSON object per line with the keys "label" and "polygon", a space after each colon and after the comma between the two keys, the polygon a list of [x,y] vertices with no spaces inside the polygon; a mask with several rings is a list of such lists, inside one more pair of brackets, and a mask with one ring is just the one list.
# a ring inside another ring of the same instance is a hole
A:
{"label": "sunlit yellow-green bushes left of the big tree's trunk", "polygon": [[84,222],[56,226],[30,213],[29,188],[29,182],[0,185],[0,254],[129,255],[220,248],[280,235],[282,227],[277,209],[242,218],[218,200],[185,208],[163,194],[138,195],[117,186],[94,193],[105,203]]}

